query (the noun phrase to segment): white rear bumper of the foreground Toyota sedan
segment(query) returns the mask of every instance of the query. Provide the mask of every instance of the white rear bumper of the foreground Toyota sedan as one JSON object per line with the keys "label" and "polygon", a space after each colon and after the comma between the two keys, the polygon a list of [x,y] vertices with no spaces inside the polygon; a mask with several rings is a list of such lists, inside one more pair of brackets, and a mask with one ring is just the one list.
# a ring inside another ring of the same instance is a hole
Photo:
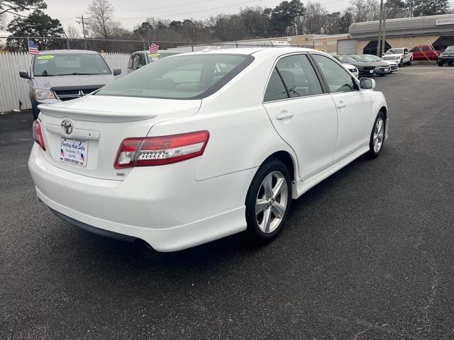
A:
{"label": "white rear bumper of the foreground Toyota sedan", "polygon": [[157,251],[246,228],[244,201],[256,169],[195,181],[198,164],[189,159],[165,169],[135,168],[124,181],[111,181],[57,168],[36,144],[28,161],[38,198],[62,220],[104,236],[143,239]]}

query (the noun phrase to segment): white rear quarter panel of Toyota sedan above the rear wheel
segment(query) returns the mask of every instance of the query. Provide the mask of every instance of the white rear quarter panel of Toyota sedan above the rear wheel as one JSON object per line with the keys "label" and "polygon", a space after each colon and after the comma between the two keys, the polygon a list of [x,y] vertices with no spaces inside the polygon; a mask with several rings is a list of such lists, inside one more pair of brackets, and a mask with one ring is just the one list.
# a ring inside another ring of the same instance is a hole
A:
{"label": "white rear quarter panel of Toyota sedan above the rear wheel", "polygon": [[216,94],[204,98],[196,115],[157,124],[150,135],[208,130],[197,181],[253,169],[277,151],[289,152],[297,164],[292,148],[279,137],[262,106],[273,63],[274,59],[255,60],[254,67],[250,65]]}

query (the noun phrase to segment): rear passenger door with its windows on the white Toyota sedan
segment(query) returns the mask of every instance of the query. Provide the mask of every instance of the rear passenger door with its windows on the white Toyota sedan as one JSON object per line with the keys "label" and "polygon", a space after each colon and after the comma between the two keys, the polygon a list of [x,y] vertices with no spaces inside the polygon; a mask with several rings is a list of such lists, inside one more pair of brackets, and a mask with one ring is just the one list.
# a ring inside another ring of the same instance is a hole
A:
{"label": "rear passenger door with its windows on the white Toyota sedan", "polygon": [[333,162],[337,113],[307,54],[281,57],[272,70],[263,106],[298,157],[301,179]]}

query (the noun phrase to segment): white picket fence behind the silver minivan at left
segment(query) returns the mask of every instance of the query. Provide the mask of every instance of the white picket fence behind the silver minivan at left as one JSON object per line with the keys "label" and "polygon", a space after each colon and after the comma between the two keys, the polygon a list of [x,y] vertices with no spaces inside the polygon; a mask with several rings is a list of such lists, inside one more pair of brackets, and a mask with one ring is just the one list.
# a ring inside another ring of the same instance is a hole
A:
{"label": "white picket fence behind the silver minivan at left", "polygon": [[[111,69],[121,68],[126,74],[129,54],[103,53]],[[0,53],[0,113],[31,108],[28,98],[28,81],[19,77],[19,70],[30,69],[31,56],[26,52]]]}

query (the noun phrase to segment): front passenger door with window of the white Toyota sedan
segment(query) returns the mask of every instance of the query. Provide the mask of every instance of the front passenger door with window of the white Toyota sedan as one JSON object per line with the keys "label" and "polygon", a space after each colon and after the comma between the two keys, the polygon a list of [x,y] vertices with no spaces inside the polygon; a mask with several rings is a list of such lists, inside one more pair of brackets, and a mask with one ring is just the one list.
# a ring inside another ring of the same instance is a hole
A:
{"label": "front passenger door with window of the white Toyota sedan", "polygon": [[368,145],[372,126],[371,99],[338,62],[325,55],[311,56],[337,109],[338,137],[333,155],[334,162],[337,162]]}

